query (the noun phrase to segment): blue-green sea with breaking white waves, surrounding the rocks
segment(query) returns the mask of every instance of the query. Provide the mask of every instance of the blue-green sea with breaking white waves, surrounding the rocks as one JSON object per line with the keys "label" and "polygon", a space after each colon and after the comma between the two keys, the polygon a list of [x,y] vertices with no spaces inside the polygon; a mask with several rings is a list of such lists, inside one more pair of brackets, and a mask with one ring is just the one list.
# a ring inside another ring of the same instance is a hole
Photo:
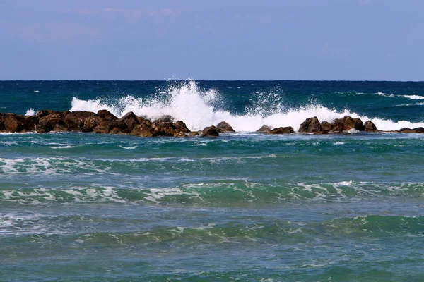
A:
{"label": "blue-green sea with breaking white waves, surrounding the rocks", "polygon": [[0,134],[0,281],[424,281],[424,82],[0,81],[0,112],[170,115],[219,137]]}

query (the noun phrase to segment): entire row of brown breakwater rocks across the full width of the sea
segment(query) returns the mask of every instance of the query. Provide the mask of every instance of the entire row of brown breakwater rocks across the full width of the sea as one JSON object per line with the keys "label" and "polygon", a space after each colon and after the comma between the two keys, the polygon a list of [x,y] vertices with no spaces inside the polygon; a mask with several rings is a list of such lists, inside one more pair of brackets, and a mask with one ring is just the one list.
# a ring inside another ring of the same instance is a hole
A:
{"label": "entire row of brown breakwater rocks across the full width of the sea", "polygon": [[[200,131],[190,131],[183,121],[174,121],[172,116],[163,116],[151,121],[143,116],[136,116],[129,112],[117,118],[110,111],[100,110],[97,114],[90,111],[52,111],[41,110],[35,116],[20,116],[16,114],[0,113],[0,132],[25,133],[36,131],[48,133],[50,131],[79,131],[93,133],[126,134],[141,137],[155,136],[208,136],[216,137],[219,133],[232,133],[235,130],[225,121],[216,126],[209,126]],[[344,116],[336,118],[332,123],[319,122],[316,116],[307,118],[299,127],[298,133],[328,134],[328,133],[351,133],[352,131],[377,132],[372,121],[363,121],[360,118]],[[290,134],[295,133],[291,126],[271,128],[263,125],[257,132],[266,134]],[[424,128],[402,128],[394,132],[400,133],[424,133]]]}

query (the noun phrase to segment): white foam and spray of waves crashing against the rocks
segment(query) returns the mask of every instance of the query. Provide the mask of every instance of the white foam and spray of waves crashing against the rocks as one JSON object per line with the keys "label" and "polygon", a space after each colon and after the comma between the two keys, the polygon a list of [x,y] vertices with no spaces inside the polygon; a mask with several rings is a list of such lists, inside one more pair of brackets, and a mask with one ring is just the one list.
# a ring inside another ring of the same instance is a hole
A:
{"label": "white foam and spray of waves crashing against the rocks", "polygon": [[[394,97],[394,94],[377,94],[386,97]],[[261,97],[254,106],[247,108],[243,115],[231,114],[230,111],[220,106],[222,99],[216,90],[202,90],[196,82],[182,82],[172,86],[165,91],[158,92],[155,97],[136,98],[132,96],[122,97],[119,100],[107,99],[81,100],[76,97],[72,99],[71,111],[93,111],[107,109],[115,116],[124,116],[133,111],[138,116],[147,116],[155,119],[163,115],[173,116],[176,120],[182,120],[190,130],[201,130],[206,126],[216,125],[220,121],[227,121],[237,131],[252,132],[266,124],[273,128],[280,126],[293,126],[297,130],[306,118],[317,116],[319,121],[332,122],[336,118],[352,116],[375,123],[380,130],[399,130],[401,128],[416,128],[423,126],[421,123],[409,121],[391,121],[382,118],[369,118],[360,116],[353,111],[344,109],[336,111],[312,102],[311,104],[288,108],[284,105],[278,95],[268,94]]]}

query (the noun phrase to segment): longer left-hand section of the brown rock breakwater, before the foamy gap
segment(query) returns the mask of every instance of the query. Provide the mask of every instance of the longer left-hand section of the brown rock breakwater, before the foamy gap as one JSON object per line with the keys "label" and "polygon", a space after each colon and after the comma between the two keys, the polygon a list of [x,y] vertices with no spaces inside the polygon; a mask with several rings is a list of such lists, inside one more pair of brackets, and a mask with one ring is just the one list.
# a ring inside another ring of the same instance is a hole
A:
{"label": "longer left-hand section of the brown rock breakwater, before the foamy gap", "polygon": [[[228,123],[219,123],[201,131],[201,136],[218,136],[219,132],[231,131]],[[48,133],[84,132],[126,134],[141,137],[173,136],[185,137],[191,131],[183,121],[174,121],[172,116],[163,116],[155,121],[129,112],[117,118],[110,111],[52,111],[41,110],[34,116],[0,113],[0,132],[7,133]],[[232,130],[234,131],[234,130]]]}

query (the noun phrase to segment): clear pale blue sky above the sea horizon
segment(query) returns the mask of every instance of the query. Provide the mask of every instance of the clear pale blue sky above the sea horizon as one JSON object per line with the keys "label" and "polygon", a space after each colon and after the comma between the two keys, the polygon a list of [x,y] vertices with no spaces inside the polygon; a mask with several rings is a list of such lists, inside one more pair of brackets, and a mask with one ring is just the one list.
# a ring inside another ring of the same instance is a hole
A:
{"label": "clear pale blue sky above the sea horizon", "polygon": [[0,80],[424,80],[422,0],[0,0]]}

